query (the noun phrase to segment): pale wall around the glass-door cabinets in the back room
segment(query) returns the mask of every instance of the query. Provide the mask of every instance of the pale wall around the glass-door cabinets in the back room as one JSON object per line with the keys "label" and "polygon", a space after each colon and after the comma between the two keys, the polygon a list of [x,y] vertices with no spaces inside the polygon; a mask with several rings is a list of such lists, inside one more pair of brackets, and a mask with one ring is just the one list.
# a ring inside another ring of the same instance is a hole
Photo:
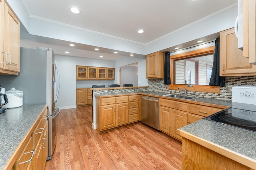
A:
{"label": "pale wall around the glass-door cabinets in the back room", "polygon": [[[76,107],[76,65],[115,67],[114,61],[64,55],[56,55],[56,61],[60,71],[60,93],[57,102],[57,107],[60,109]],[[85,84],[87,84],[87,82],[88,84],[96,84],[96,81],[97,80],[84,80]],[[104,84],[106,82],[104,82],[104,80],[98,80],[97,83]],[[91,86],[88,85],[88,87]]]}

